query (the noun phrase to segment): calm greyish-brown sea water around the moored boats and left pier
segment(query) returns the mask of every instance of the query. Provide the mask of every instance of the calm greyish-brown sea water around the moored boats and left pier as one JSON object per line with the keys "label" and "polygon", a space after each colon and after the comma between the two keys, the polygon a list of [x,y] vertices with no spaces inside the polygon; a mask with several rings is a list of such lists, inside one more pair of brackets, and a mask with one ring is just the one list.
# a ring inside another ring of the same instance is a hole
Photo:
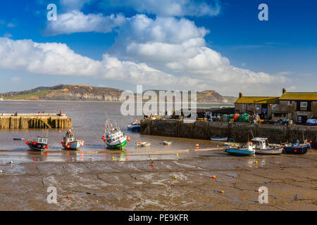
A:
{"label": "calm greyish-brown sea water around the moored boats and left pier", "polygon": [[[28,150],[25,141],[13,141],[14,137],[25,140],[34,139],[38,135],[46,135],[42,129],[1,130],[0,129],[0,163],[30,162],[30,161],[85,161],[85,160],[144,160],[146,158],[168,158],[177,150],[194,148],[199,143],[200,148],[213,148],[215,143],[204,140],[179,139],[163,136],[144,136],[128,131],[127,126],[132,120],[140,117],[123,116],[120,113],[121,103],[104,102],[66,102],[66,101],[0,101],[0,113],[66,113],[73,119],[73,131],[77,139],[85,141],[85,146],[77,152],[63,150],[61,140],[66,130],[51,129],[48,131],[49,150],[34,153]],[[209,108],[222,106],[219,104],[198,103],[197,107]],[[101,136],[104,134],[104,120],[111,117],[131,141],[125,147],[125,152],[107,150]],[[135,142],[147,141],[151,146],[136,147]],[[164,146],[163,141],[173,141],[171,146]],[[93,158],[93,159],[92,159]]]}

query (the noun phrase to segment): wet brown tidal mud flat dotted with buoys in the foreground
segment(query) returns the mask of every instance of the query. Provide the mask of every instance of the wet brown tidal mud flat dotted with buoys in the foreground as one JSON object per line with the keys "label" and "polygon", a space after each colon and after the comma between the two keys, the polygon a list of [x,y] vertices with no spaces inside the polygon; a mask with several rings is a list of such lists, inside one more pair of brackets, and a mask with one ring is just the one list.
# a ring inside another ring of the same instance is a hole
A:
{"label": "wet brown tidal mud flat dotted with buoys in the foreground", "polygon": [[[0,210],[317,210],[316,150],[247,158],[222,150],[186,154],[0,165]],[[47,203],[49,186],[56,187],[57,204]],[[268,204],[258,201],[261,186]]]}

